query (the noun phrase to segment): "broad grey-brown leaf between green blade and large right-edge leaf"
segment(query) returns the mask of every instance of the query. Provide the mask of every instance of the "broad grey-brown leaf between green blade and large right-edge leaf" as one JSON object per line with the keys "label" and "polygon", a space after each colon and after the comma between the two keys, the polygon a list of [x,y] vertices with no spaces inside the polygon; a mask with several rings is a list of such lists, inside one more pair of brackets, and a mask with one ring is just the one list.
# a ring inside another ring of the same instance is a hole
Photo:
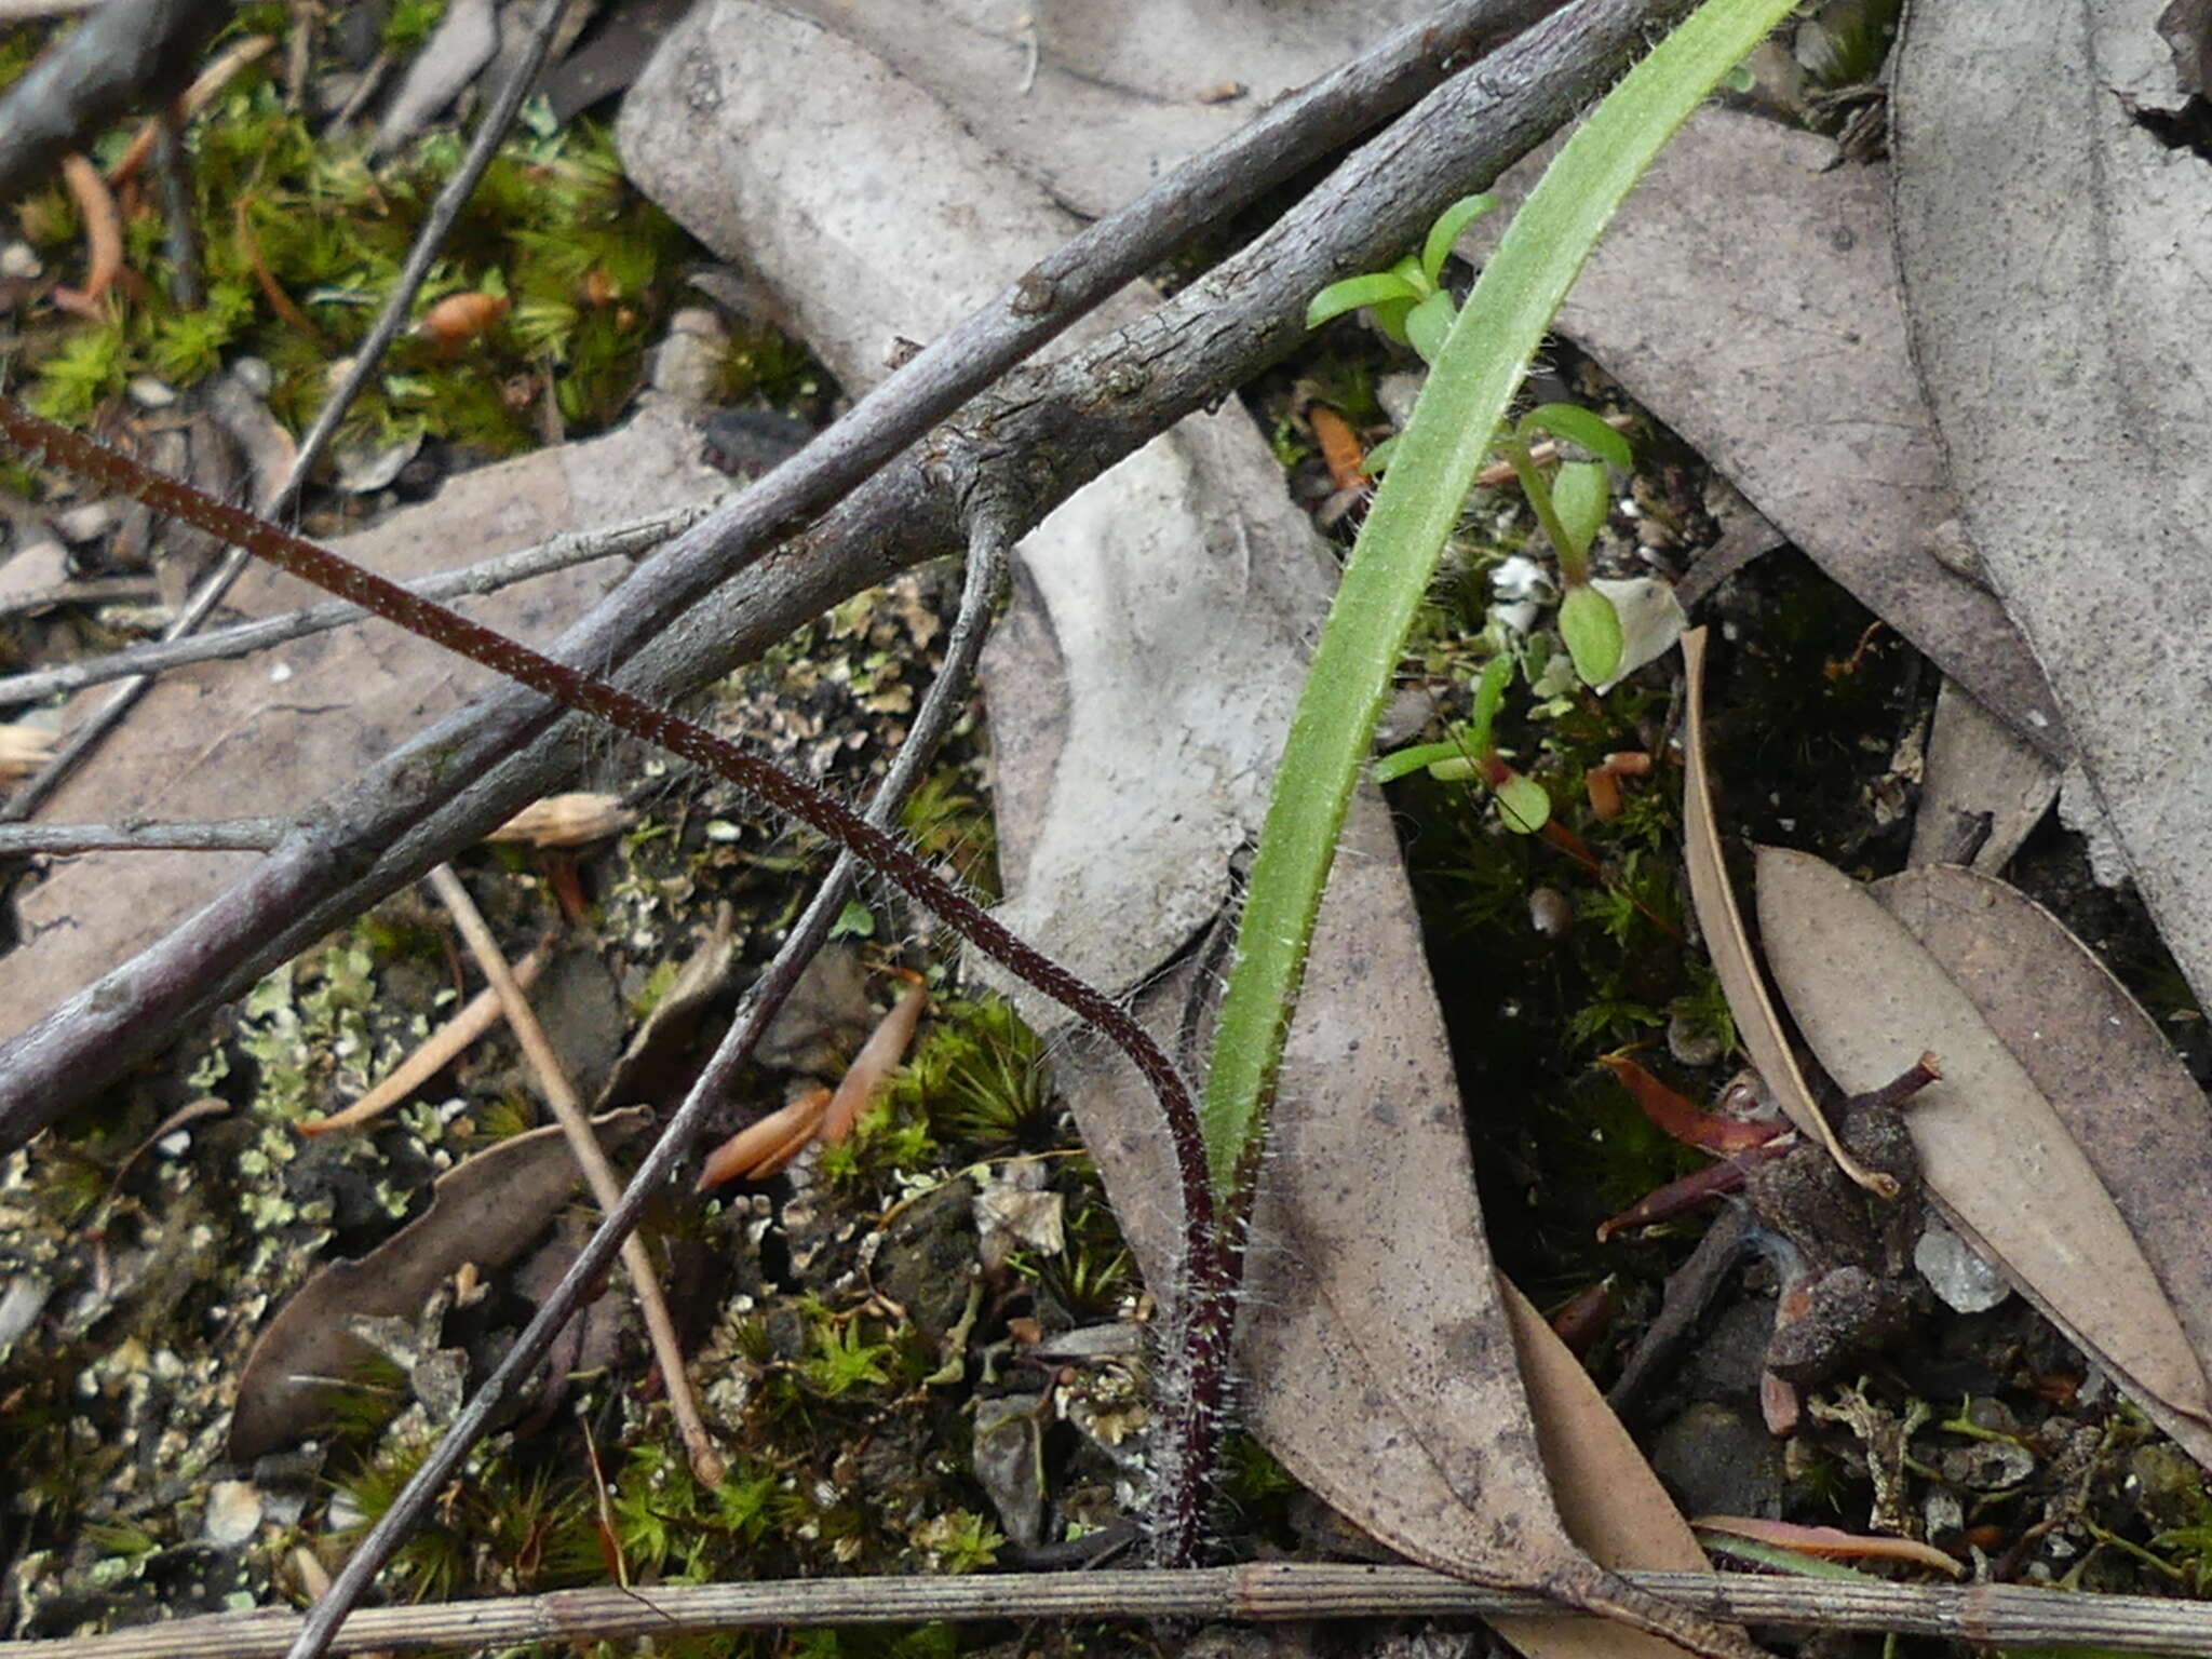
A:
{"label": "broad grey-brown leaf between green blade and large right-edge leaf", "polygon": [[[1498,181],[1509,204],[1537,150]],[[1701,108],[1584,265],[1559,332],[1688,438],[1796,546],[2022,737],[2057,710],[1991,593],[1953,568],[1958,515],[1905,349],[1882,168]],[[1460,248],[1482,257],[1506,212]]]}

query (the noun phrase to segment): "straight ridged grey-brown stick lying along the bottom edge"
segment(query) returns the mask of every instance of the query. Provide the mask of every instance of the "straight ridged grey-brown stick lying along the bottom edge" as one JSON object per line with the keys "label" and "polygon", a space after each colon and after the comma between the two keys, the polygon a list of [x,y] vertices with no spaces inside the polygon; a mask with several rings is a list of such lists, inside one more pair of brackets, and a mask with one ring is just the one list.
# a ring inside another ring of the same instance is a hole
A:
{"label": "straight ridged grey-brown stick lying along the bottom edge", "polygon": [[[1639,1590],[1730,1624],[1871,1630],[1975,1648],[2093,1648],[2212,1657],[2212,1606],[2024,1584],[1882,1584],[1750,1573],[1621,1573]],[[553,1590],[489,1601],[367,1608],[330,1652],[500,1650],[823,1626],[1002,1619],[1411,1619],[1571,1617],[1526,1590],[1418,1566],[1272,1562],[1197,1573],[984,1573]],[[104,1637],[0,1641],[0,1659],[279,1659],[301,1628],[288,1608],[173,1619]]]}

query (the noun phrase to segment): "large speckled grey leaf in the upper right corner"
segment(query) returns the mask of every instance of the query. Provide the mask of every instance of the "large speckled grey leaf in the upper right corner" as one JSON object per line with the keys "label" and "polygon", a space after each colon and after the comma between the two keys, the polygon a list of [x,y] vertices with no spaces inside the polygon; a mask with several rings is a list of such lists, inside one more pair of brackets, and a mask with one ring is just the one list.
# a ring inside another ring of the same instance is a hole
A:
{"label": "large speckled grey leaf in the upper right corner", "polygon": [[2135,119],[2183,102],[2157,20],[2159,0],[1913,7],[1896,234],[1966,529],[2208,1000],[2212,170]]}

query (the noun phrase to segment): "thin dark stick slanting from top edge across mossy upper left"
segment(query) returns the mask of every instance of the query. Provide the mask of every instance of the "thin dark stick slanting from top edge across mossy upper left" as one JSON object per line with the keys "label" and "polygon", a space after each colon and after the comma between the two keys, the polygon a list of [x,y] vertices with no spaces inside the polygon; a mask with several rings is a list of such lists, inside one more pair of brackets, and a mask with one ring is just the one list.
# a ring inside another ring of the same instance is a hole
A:
{"label": "thin dark stick slanting from top edge across mossy upper left", "polygon": [[[500,95],[493,100],[491,108],[484,111],[484,119],[476,124],[476,137],[469,142],[469,153],[462,155],[460,166],[453,177],[445,181],[438,199],[431,204],[429,215],[422,219],[422,230],[416,234],[414,246],[407,250],[407,263],[400,268],[398,279],[392,285],[389,299],[385,299],[383,312],[378,312],[376,323],[363,336],[361,345],[354,347],[352,363],[338,387],[323,400],[321,411],[307,427],[307,436],[299,440],[299,458],[292,462],[292,476],[283,480],[276,498],[268,504],[270,518],[283,518],[292,502],[299,500],[301,489],[307,484],[307,476],[314,471],[314,462],[321,460],[323,449],[330,445],[332,436],[338,431],[338,422],[345,420],[345,411],[354,407],[354,398],[361,396],[361,387],[369,383],[376,374],[378,363],[383,363],[385,349],[398,338],[398,332],[407,325],[407,312],[414,310],[414,296],[422,288],[422,279],[429,276],[429,268],[438,263],[438,252],[445,248],[447,232],[453,221],[460,219],[460,210],[469,206],[469,197],[476,195],[478,179],[484,177],[484,168],[491,166],[491,157],[500,153],[500,144],[507,139],[507,128],[513,126],[515,113],[522,108],[522,100],[529,95],[531,84],[538,80],[538,71],[544,69],[546,55],[553,51],[553,33],[560,24],[560,13],[566,0],[544,0],[538,11],[538,22],[531,29],[529,51],[522,53],[522,62],[515,64],[515,73],[507,77],[500,86]],[[197,633],[199,624],[208,619],[223,595],[230,593],[230,584],[239,580],[239,573],[252,562],[252,555],[241,546],[232,546],[190,595],[177,608],[175,619],[161,630],[164,639],[181,639],[184,635]],[[9,796],[7,805],[0,805],[0,821],[4,818],[29,818],[38,810],[38,803],[53,794],[62,779],[66,779],[86,754],[91,754],[102,739],[115,728],[139,695],[153,681],[144,675],[137,679],[126,679],[117,686],[108,699],[95,708],[91,714],[71,730],[69,739],[53,752],[53,759]]]}

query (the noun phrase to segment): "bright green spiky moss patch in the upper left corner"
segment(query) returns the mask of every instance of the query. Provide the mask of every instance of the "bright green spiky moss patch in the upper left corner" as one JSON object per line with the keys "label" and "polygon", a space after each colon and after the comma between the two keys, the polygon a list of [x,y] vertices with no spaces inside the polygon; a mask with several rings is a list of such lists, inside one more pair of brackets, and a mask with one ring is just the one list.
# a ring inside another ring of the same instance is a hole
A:
{"label": "bright green spiky moss patch in the upper left corner", "polygon": [[[248,7],[219,44],[283,38],[294,27],[283,7]],[[465,139],[431,133],[372,168],[361,133],[330,139],[285,108],[281,73],[281,53],[263,55],[188,135],[206,303],[170,299],[155,197],[128,192],[124,254],[133,279],[108,296],[104,319],[42,312],[20,336],[15,378],[29,380],[35,409],[84,422],[135,374],[181,389],[254,354],[274,369],[279,418],[296,431],[314,416],[330,365],[389,294]],[[135,126],[102,135],[93,159],[111,164]],[[49,270],[82,263],[80,210],[58,181],[31,192],[15,217]],[[420,434],[502,456],[544,440],[549,403],[573,431],[608,425],[637,389],[639,356],[659,336],[688,252],[688,239],[628,188],[604,131],[524,122],[420,301],[427,310],[480,292],[509,310],[465,338],[398,341],[343,438],[389,445]],[[732,349],[728,392],[792,396],[816,378],[801,365],[765,332],[748,332]]]}

